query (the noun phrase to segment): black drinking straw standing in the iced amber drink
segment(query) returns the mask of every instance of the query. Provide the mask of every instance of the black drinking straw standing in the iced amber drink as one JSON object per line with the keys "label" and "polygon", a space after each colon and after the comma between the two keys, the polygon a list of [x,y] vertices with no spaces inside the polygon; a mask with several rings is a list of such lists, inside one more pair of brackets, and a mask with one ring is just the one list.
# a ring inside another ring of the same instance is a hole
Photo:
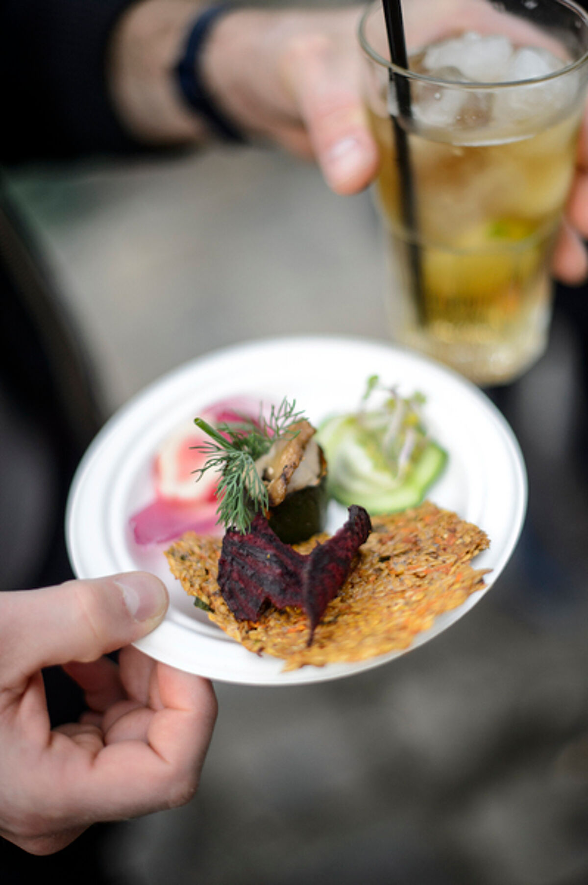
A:
{"label": "black drinking straw standing in the iced amber drink", "polygon": [[[409,70],[409,56],[406,48],[406,39],[404,36],[404,23],[402,21],[401,0],[382,0],[384,5],[384,17],[386,19],[386,32],[388,36],[388,45],[390,48],[390,60],[393,65],[400,67],[403,71]],[[410,119],[412,117],[412,107],[410,103],[410,84],[408,77],[394,76],[392,70],[389,71],[389,81],[393,86],[396,94],[396,104],[398,106],[398,118]],[[426,321],[426,308],[424,303],[423,290],[423,269],[421,266],[421,254],[418,243],[415,242],[413,233],[418,230],[416,217],[416,195],[414,178],[412,174],[412,163],[410,161],[410,145],[409,137],[406,131],[401,127],[399,119],[393,114],[391,115],[393,138],[396,145],[396,156],[398,160],[398,171],[400,175],[401,188],[401,214],[404,226],[409,232],[409,266],[410,275],[412,277],[412,286],[416,300],[416,312],[421,324]]]}

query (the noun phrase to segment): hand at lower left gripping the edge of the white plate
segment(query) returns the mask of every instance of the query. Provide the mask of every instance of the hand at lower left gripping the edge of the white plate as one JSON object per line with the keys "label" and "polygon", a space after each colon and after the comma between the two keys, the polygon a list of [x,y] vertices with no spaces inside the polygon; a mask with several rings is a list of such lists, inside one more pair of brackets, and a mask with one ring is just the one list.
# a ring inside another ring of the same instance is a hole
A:
{"label": "hand at lower left gripping the edge of the white plate", "polygon": [[[98,820],[184,804],[208,748],[208,681],[123,648],[168,604],[146,573],[0,593],[0,835],[34,854]],[[51,729],[42,667],[65,666],[90,712]]]}

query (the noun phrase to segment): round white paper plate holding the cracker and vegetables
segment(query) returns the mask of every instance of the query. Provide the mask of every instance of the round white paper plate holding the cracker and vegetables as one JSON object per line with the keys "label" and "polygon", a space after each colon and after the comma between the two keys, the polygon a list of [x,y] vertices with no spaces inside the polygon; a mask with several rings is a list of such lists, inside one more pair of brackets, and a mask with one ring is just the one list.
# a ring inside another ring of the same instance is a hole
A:
{"label": "round white paper plate holding the cracker and vegetables", "polygon": [[[416,390],[426,396],[431,434],[449,453],[447,470],[429,497],[488,534],[491,547],[476,565],[492,569],[486,589],[492,586],[523,527],[527,487],[515,437],[488,398],[445,367],[382,342],[313,336],[250,342],[180,366],[135,396],[103,427],[73,481],[66,530],[78,577],[145,569],[157,573],[170,589],[164,622],[136,643],[138,648],[211,679],[274,686],[338,679],[404,653],[282,673],[279,659],[243,649],[195,609],[169,573],[163,547],[138,547],[128,526],[129,517],[153,497],[151,468],[159,445],[207,405],[227,396],[253,396],[266,402],[287,396],[317,424],[329,413],[355,409],[371,374],[396,385],[404,396]],[[334,529],[347,511],[337,504],[331,508]],[[412,647],[447,629],[485,590],[439,617]]]}

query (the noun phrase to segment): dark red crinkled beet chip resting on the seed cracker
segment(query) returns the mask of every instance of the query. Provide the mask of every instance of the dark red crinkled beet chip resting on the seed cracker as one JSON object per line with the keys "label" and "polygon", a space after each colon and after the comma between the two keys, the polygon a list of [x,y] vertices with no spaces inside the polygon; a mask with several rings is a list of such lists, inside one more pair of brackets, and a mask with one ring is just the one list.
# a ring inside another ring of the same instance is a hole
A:
{"label": "dark red crinkled beet chip resting on the seed cracker", "polygon": [[279,540],[267,519],[256,514],[246,535],[229,529],[218,562],[218,587],[237,620],[257,620],[263,604],[301,608],[310,637],[347,579],[357,550],[370,535],[363,507],[349,507],[347,522],[309,554]]}

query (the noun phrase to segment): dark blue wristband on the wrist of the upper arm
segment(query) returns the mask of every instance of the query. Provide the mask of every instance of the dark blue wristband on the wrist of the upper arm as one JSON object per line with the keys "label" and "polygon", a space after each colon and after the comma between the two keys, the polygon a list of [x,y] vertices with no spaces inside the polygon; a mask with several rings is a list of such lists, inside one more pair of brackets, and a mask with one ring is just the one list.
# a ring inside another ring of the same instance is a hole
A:
{"label": "dark blue wristband on the wrist of the upper arm", "polygon": [[227,142],[244,142],[237,127],[218,110],[202,81],[202,47],[210,34],[210,27],[219,16],[233,7],[231,4],[210,6],[195,19],[187,35],[186,50],[176,66],[179,90],[190,108]]}

